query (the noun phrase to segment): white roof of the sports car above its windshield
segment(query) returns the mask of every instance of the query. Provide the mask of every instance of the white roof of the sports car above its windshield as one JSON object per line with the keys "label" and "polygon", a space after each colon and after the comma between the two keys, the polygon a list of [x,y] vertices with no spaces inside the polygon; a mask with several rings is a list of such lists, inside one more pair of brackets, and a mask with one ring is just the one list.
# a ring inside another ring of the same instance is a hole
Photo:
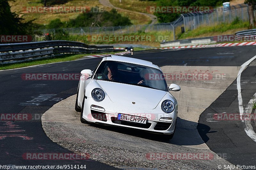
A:
{"label": "white roof of the sports car above its windshield", "polygon": [[142,66],[153,67],[153,68],[159,69],[159,67],[157,65],[153,64],[150,61],[135,59],[135,58],[131,58],[131,57],[111,55],[110,57],[106,57],[106,60],[120,61],[120,62],[132,63],[132,64],[139,64],[139,65],[142,65]]}

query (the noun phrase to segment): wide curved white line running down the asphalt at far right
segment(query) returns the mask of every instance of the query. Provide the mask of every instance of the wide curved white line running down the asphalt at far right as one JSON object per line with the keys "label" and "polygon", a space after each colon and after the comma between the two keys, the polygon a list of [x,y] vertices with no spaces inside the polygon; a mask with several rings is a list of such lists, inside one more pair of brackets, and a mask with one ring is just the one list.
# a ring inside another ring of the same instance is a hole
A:
{"label": "wide curved white line running down the asphalt at far right", "polygon": [[[240,83],[241,74],[244,71],[245,67],[247,67],[255,59],[256,59],[256,55],[254,57],[252,57],[250,60],[246,61],[244,64],[242,64],[241,68],[237,74],[237,79],[236,79],[237,92],[238,92],[237,97],[238,97],[238,106],[239,106],[239,112],[240,112],[240,117],[242,119],[242,122],[244,122],[244,120],[242,118],[242,115],[244,114],[244,107],[243,107],[243,99],[242,99],[242,94],[241,94],[241,83]],[[252,140],[254,140],[256,142],[256,133],[253,131],[252,125],[250,123],[247,124],[247,122],[244,122],[244,123],[245,123],[244,131],[250,138],[252,138]]]}

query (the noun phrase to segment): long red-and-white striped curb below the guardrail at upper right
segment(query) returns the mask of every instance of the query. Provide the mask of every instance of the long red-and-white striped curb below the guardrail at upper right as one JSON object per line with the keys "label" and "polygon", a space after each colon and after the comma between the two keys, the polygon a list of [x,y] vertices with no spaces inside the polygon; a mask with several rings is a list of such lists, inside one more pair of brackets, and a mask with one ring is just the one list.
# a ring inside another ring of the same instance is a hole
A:
{"label": "long red-and-white striped curb below the guardrail at upper right", "polygon": [[226,47],[226,46],[256,46],[256,42],[242,42],[242,43],[222,43],[222,44],[207,44],[197,46],[175,46],[175,47],[162,47],[156,49],[182,49],[182,48],[206,48],[206,47]]}

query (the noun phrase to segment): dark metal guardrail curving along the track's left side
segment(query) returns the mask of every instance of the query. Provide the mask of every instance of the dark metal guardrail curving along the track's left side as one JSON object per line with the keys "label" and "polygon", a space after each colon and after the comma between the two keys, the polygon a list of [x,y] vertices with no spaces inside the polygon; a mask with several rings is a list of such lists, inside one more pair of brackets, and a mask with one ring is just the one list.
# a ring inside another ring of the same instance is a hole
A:
{"label": "dark metal guardrail curving along the track's left side", "polygon": [[75,41],[41,41],[0,44],[0,64],[50,58],[66,53],[96,53],[114,51],[113,46],[90,46]]}

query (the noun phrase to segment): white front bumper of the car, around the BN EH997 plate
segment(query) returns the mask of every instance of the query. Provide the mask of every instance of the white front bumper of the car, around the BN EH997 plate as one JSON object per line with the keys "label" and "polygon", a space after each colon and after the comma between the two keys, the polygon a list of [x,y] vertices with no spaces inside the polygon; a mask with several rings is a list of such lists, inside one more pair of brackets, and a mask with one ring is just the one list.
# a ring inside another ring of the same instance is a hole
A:
{"label": "white front bumper of the car, around the BN EH997 plate", "polygon": [[[174,132],[178,112],[176,108],[172,113],[167,114],[157,107],[155,109],[147,109],[116,104],[111,101],[96,102],[92,97],[88,97],[84,100],[83,118],[88,122],[168,135]],[[92,105],[100,106],[104,108],[105,111],[92,109]],[[118,113],[147,117],[147,123],[140,124],[117,120]],[[160,121],[159,119],[161,117],[172,117],[173,120],[172,122]]]}

